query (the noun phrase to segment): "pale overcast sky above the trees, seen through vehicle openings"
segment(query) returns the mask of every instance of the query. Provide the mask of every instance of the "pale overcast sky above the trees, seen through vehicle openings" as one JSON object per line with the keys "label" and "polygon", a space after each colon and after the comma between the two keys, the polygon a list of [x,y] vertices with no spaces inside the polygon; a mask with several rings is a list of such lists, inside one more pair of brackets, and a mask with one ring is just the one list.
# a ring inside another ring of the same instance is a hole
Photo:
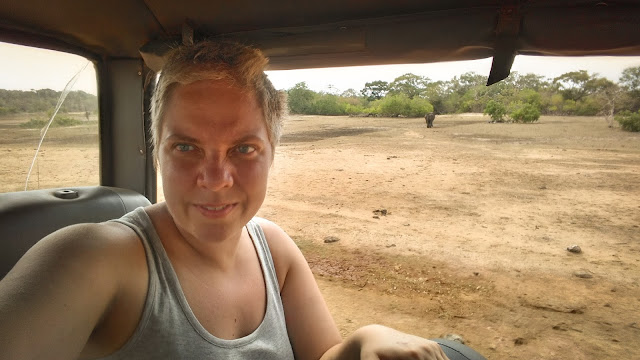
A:
{"label": "pale overcast sky above the trees, seen through vehicle openings", "polygon": [[[59,91],[64,89],[67,82],[86,62],[86,59],[76,55],[0,43],[0,89],[49,88]],[[512,71],[554,78],[570,71],[587,70],[589,73],[598,73],[600,76],[618,81],[622,70],[635,66],[640,66],[640,57],[517,56]],[[359,91],[366,82],[375,80],[391,82],[406,73],[426,76],[432,81],[437,81],[450,80],[469,71],[488,76],[490,69],[491,59],[482,59],[454,63],[285,70],[268,74],[278,89],[289,89],[304,81],[312,90],[340,93],[349,88]],[[96,93],[93,66],[88,66],[83,71],[74,90]]]}

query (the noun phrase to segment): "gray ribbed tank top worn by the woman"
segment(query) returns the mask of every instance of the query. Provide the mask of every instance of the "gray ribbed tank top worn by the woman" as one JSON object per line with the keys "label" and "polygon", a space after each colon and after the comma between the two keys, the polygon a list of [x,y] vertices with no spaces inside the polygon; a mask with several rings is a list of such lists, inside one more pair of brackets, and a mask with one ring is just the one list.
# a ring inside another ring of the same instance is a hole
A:
{"label": "gray ribbed tank top worn by the woman", "polygon": [[133,229],[144,245],[149,290],[138,326],[127,343],[104,359],[293,359],[273,259],[262,228],[247,225],[260,259],[267,293],[262,323],[251,334],[233,340],[211,335],[196,319],[178,277],[143,208],[113,220]]}

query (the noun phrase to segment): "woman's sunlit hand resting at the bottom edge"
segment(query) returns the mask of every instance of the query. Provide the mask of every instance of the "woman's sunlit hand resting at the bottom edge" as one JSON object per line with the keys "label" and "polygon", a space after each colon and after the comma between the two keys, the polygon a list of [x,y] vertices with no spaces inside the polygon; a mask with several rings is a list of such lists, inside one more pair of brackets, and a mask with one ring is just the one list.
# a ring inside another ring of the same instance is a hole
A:
{"label": "woman's sunlit hand resting at the bottom edge", "polygon": [[440,345],[418,336],[381,325],[369,325],[358,332],[362,360],[449,360]]}

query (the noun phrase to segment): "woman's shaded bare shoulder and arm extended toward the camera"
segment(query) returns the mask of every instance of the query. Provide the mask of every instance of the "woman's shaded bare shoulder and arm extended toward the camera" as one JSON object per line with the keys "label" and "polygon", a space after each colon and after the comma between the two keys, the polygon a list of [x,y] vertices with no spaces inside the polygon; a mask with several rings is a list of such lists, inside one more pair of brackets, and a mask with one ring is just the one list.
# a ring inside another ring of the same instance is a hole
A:
{"label": "woman's shaded bare shoulder and arm extended toward the camera", "polygon": [[45,237],[0,281],[0,333],[8,334],[0,358],[77,358],[144,266],[144,248],[123,224],[78,224]]}

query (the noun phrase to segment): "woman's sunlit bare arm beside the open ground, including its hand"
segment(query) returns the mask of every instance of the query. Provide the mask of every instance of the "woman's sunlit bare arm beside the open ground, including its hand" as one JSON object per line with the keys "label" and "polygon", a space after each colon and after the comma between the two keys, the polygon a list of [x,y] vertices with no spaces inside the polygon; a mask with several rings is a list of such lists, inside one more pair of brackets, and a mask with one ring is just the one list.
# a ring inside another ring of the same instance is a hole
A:
{"label": "woman's sunlit bare arm beside the open ground, including its hand", "polygon": [[296,244],[277,225],[268,221],[261,225],[276,265],[296,359],[447,360],[437,343],[381,325],[362,327],[342,341],[311,269]]}

